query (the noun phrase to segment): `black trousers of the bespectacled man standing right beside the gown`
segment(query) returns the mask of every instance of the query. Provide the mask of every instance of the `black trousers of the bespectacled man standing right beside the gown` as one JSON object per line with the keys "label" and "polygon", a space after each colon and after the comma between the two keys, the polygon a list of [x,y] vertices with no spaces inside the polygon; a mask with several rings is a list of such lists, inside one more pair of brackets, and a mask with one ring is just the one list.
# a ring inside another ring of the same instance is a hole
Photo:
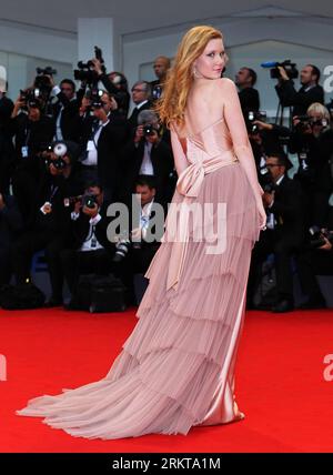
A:
{"label": "black trousers of the bespectacled man standing right beside the gown", "polygon": [[261,234],[252,250],[248,301],[252,303],[256,284],[261,279],[261,269],[268,255],[273,253],[275,259],[278,300],[289,300],[293,302],[293,274],[291,259],[299,252],[300,243],[276,231],[266,230]]}

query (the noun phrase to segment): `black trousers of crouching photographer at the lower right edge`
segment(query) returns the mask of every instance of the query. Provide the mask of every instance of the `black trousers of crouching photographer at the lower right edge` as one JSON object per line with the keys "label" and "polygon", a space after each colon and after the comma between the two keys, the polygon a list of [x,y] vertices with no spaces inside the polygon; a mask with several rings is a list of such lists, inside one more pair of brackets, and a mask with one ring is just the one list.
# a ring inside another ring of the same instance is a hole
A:
{"label": "black trousers of crouching photographer at the lower right edge", "polygon": [[297,256],[302,292],[310,299],[323,299],[316,275],[333,275],[333,251],[307,249]]}

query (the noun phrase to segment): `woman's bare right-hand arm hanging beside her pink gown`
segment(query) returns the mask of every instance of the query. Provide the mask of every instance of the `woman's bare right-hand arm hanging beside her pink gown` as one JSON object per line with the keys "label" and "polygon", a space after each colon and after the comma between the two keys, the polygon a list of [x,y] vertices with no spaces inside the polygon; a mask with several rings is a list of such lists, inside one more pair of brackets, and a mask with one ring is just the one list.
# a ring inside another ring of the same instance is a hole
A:
{"label": "woman's bare right-hand arm hanging beside her pink gown", "polygon": [[258,181],[255,161],[248,137],[239,94],[233,81],[223,78],[218,81],[223,95],[224,118],[232,138],[235,154],[245,170],[248,180],[254,191],[255,199],[261,202],[263,190]]}

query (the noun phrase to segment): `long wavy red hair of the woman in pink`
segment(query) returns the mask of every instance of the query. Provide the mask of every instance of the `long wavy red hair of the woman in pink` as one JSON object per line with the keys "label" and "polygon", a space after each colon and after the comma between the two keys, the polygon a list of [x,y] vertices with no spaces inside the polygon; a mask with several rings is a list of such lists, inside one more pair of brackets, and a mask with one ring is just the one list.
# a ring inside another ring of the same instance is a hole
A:
{"label": "long wavy red hair of the woman in pink", "polygon": [[221,31],[213,27],[200,26],[191,28],[183,37],[173,67],[169,70],[164,91],[155,110],[162,122],[170,128],[171,122],[182,127],[189,92],[193,83],[192,65],[210,40],[221,39]]}

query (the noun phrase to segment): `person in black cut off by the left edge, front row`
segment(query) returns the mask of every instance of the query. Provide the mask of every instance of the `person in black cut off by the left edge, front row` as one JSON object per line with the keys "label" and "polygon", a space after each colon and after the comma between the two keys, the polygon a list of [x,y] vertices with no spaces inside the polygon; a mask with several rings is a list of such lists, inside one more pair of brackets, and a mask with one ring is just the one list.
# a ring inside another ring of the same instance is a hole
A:
{"label": "person in black cut off by the left edge, front row", "polygon": [[10,246],[22,229],[23,220],[14,196],[3,194],[0,189],[0,287],[10,281]]}

